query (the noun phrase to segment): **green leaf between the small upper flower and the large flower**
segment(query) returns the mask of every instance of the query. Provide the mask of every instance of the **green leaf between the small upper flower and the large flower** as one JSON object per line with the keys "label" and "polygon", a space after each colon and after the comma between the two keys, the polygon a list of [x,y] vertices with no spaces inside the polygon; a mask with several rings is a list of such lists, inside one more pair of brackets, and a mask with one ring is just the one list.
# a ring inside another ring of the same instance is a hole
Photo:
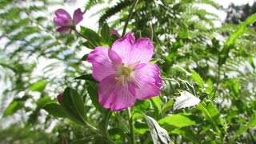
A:
{"label": "green leaf between the small upper flower and the large flower", "polygon": [[96,46],[107,46],[109,47],[104,38],[99,36],[94,30],[90,30],[89,28],[81,26],[81,33],[86,38],[87,41],[94,47]]}

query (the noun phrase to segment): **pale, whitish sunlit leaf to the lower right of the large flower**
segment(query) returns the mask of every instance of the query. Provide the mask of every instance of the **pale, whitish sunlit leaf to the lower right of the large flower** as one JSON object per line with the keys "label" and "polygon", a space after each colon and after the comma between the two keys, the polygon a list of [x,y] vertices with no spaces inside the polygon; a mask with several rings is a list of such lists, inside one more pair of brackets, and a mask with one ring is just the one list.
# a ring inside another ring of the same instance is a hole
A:
{"label": "pale, whitish sunlit leaf to the lower right of the large flower", "polygon": [[175,99],[174,110],[198,105],[200,99],[190,94],[186,90],[182,91],[181,95]]}

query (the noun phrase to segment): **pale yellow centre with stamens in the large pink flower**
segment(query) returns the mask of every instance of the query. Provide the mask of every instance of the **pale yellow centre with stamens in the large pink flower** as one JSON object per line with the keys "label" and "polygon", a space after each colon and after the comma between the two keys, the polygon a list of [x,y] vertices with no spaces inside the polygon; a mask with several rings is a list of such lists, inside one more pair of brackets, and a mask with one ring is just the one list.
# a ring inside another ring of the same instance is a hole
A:
{"label": "pale yellow centre with stamens in the large pink flower", "polygon": [[125,82],[130,81],[132,74],[134,72],[134,66],[119,66],[117,77],[115,79],[117,80],[119,85],[124,85]]}

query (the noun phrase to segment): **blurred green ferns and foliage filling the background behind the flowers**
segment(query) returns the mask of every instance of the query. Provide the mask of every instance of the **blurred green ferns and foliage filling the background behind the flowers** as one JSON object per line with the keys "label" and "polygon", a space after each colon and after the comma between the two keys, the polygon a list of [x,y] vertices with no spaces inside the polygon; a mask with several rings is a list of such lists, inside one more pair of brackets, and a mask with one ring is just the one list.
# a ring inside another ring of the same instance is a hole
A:
{"label": "blurred green ferns and foliage filling the background behind the flowers", "polygon": [[[1,143],[104,141],[94,137],[86,126],[54,118],[42,109],[57,102],[58,93],[70,86],[82,95],[86,118],[92,125],[101,128],[108,114],[108,110],[97,107],[96,85],[74,80],[91,73],[81,58],[84,49],[92,47],[74,33],[56,33],[54,14],[49,9],[63,2],[0,2],[0,42],[4,43],[0,46]],[[87,11],[102,3],[89,0],[81,6]],[[105,23],[122,30],[132,3],[120,0],[98,10],[94,14],[99,17],[98,33]],[[231,142],[234,135],[237,142],[256,142],[255,129],[249,129],[256,126],[255,122],[250,123],[256,108],[256,2],[253,6],[230,5],[221,27],[215,26],[215,22],[220,22],[218,15],[202,6],[222,9],[211,0],[140,0],[134,10],[128,28],[136,38],[152,39],[154,62],[161,67],[164,79],[160,97],[134,106],[135,133],[139,134],[136,139],[142,143],[152,140],[146,122],[136,111],[156,120],[169,114],[194,114],[196,125],[162,125],[174,143]],[[113,21],[112,17],[117,19]],[[172,106],[179,90],[197,95],[206,106],[174,111]],[[209,109],[210,117],[204,108]],[[125,112],[112,114],[109,132],[115,142],[127,142],[129,138],[126,117]],[[243,127],[246,124],[248,127]]]}

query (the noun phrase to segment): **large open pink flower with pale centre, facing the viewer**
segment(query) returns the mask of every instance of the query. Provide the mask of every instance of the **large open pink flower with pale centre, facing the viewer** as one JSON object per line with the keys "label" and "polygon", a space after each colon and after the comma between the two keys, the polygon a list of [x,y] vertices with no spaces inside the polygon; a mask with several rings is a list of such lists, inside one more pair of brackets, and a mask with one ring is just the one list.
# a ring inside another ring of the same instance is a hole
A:
{"label": "large open pink flower with pale centre, facing the viewer", "polygon": [[87,58],[93,77],[99,82],[98,102],[118,111],[133,106],[136,99],[145,100],[160,94],[162,78],[157,65],[151,64],[154,46],[149,38],[135,42],[126,34],[111,49],[98,46]]}

